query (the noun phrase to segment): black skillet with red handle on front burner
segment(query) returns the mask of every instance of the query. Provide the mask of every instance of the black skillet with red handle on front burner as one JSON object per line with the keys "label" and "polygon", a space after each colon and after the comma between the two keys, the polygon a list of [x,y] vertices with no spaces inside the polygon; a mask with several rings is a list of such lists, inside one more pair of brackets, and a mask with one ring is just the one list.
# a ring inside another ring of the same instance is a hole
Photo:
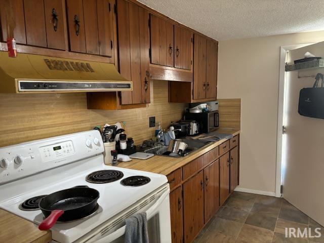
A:
{"label": "black skillet with red handle on front burner", "polygon": [[41,201],[39,208],[45,220],[38,229],[49,230],[57,221],[67,222],[88,216],[97,205],[99,191],[88,186],[76,186],[51,193]]}

